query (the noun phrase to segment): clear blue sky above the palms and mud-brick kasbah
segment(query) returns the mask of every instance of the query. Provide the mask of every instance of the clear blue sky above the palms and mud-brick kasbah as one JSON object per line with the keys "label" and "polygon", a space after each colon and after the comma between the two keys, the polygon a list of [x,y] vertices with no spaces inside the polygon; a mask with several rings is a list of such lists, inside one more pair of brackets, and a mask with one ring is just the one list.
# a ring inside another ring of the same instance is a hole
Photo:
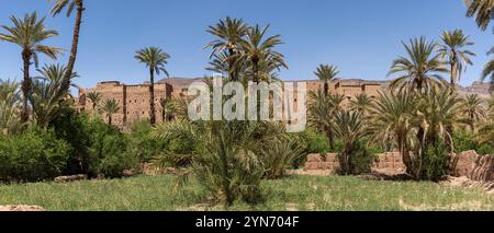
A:
{"label": "clear blue sky above the palms and mud-brick kasbah", "polygon": [[[386,78],[390,65],[404,55],[401,40],[425,35],[438,39],[444,30],[462,28],[471,35],[478,54],[462,84],[479,80],[487,62],[486,51],[494,46],[492,31],[481,32],[473,19],[464,16],[462,0],[85,0],[87,11],[81,31],[76,83],[119,80],[141,83],[148,79],[134,53],[145,46],[159,46],[171,55],[168,70],[172,77],[195,78],[209,74],[212,39],[206,26],[226,15],[243,18],[250,24],[271,24],[271,34],[285,43],[279,50],[290,70],[285,80],[314,79],[319,63],[334,63],[341,77]],[[47,15],[47,0],[0,0],[0,24],[11,25],[10,15],[37,11]],[[74,16],[47,18],[47,27],[60,35],[46,42],[68,49]],[[66,62],[69,53],[59,59]],[[43,62],[50,62],[43,59]],[[0,43],[0,78],[21,79],[20,48]]]}

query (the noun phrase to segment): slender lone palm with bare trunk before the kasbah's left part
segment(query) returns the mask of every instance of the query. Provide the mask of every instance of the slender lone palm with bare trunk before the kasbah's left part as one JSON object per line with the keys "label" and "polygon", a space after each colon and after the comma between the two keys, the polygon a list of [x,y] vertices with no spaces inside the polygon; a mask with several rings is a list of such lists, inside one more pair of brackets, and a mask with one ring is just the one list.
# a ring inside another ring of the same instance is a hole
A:
{"label": "slender lone palm with bare trunk before the kasbah's left part", "polygon": [[149,68],[149,121],[156,124],[156,106],[155,106],[155,73],[159,75],[164,72],[169,77],[165,66],[168,63],[170,55],[157,47],[148,47],[136,53],[135,59],[145,63]]}

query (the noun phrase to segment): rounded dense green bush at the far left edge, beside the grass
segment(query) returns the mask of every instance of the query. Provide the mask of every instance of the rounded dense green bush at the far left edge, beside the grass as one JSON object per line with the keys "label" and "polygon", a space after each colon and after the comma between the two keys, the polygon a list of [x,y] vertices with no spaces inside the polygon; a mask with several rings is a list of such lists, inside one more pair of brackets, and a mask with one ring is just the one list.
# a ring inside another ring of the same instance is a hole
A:
{"label": "rounded dense green bush at the far left edge, beside the grass", "polygon": [[53,130],[35,127],[21,135],[0,136],[0,179],[38,182],[63,174],[70,147]]}

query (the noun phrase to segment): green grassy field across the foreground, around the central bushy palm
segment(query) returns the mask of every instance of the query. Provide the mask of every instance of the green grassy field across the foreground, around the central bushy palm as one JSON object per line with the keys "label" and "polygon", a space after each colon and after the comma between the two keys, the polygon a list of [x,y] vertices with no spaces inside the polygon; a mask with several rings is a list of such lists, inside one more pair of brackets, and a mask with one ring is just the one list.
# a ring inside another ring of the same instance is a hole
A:
{"label": "green grassy field across the foreground, around the central bushy palm", "polygon": [[[71,184],[1,185],[1,205],[37,205],[48,210],[223,210],[206,205],[198,184],[172,191],[172,176],[87,180]],[[229,210],[494,210],[482,190],[434,183],[373,182],[358,177],[288,176],[263,182],[263,203]]]}

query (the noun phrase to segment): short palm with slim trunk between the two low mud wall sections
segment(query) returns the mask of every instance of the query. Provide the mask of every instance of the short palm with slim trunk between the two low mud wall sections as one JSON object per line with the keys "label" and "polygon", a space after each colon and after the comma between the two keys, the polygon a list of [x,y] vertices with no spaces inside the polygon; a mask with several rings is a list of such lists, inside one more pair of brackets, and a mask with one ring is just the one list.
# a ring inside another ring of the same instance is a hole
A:
{"label": "short palm with slim trunk between the two low mud wall sections", "polygon": [[355,171],[352,160],[357,152],[357,143],[367,136],[362,116],[357,112],[340,110],[336,113],[334,132],[343,142],[343,151],[339,155],[341,172],[345,175],[352,174]]}

